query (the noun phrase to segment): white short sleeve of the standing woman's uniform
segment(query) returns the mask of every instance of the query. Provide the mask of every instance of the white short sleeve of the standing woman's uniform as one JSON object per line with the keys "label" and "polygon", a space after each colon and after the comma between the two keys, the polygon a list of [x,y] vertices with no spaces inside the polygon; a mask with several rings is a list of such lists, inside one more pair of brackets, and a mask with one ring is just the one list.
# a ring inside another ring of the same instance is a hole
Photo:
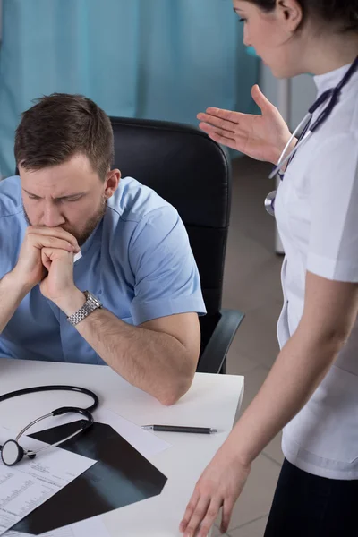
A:
{"label": "white short sleeve of the standing woman's uniform", "polygon": [[337,134],[312,155],[307,269],[358,282],[358,136]]}

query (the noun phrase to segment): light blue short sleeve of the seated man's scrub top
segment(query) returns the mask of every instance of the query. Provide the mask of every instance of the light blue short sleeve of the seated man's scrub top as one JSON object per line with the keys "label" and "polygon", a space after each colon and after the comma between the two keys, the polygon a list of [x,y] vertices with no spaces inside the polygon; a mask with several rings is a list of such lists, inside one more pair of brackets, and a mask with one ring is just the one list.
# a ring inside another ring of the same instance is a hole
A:
{"label": "light blue short sleeve of the seated man's scrub top", "polygon": [[135,325],[177,313],[206,313],[188,234],[171,206],[141,218],[129,243]]}

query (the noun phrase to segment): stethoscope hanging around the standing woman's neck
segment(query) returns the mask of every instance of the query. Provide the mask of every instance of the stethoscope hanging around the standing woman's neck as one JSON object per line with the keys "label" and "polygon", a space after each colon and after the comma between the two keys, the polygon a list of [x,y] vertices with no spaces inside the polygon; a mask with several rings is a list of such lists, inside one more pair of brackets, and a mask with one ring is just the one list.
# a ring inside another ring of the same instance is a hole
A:
{"label": "stethoscope hanging around the standing woman's neck", "polygon": [[[354,63],[350,66],[348,71],[345,73],[345,76],[343,77],[343,79],[337,84],[336,88],[331,88],[330,90],[325,91],[324,93],[322,93],[320,98],[318,98],[316,102],[313,103],[313,105],[308,111],[308,114],[303,117],[302,122],[294,130],[294,133],[292,134],[290,140],[287,141],[286,147],[282,151],[281,157],[278,159],[277,166],[274,167],[271,174],[269,175],[269,179],[273,179],[277,174],[279,175],[281,181],[284,179],[285,174],[280,173],[282,166],[284,166],[286,163],[288,166],[291,160],[294,158],[294,155],[296,154],[297,150],[300,149],[303,146],[303,144],[306,143],[306,141],[310,140],[313,132],[315,132],[320,127],[321,124],[325,123],[329,115],[331,115],[334,107],[336,107],[342,89],[351,80],[354,72],[357,71],[357,69],[358,69],[358,56],[355,58]],[[318,110],[318,108],[321,105],[323,105],[327,101],[328,101],[327,107],[325,107],[324,110],[322,110],[322,112],[320,113],[316,121],[313,124],[311,124],[312,115]],[[292,141],[294,141],[295,135],[301,129],[303,129],[303,132],[301,133],[294,149],[286,155],[287,149],[289,149]],[[269,192],[265,200],[265,209],[268,211],[268,214],[270,214],[272,217],[275,216],[276,193],[277,191]]]}

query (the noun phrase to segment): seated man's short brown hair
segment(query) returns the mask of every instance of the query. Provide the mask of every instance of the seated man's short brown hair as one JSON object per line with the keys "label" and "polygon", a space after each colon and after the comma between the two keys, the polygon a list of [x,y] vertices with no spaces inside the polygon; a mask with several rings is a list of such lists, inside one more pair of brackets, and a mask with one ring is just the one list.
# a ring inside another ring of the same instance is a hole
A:
{"label": "seated man's short brown hair", "polygon": [[22,114],[16,130],[17,166],[39,170],[82,154],[105,180],[115,155],[107,114],[82,95],[53,93],[35,102]]}

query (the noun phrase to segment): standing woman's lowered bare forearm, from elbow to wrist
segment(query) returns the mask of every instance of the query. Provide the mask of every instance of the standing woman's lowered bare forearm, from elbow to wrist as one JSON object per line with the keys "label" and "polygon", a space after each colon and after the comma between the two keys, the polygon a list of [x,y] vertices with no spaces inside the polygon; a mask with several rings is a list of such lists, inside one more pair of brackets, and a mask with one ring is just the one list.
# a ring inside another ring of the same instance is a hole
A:
{"label": "standing woman's lowered bare forearm, from elbow to wrist", "polygon": [[339,347],[334,339],[308,344],[297,333],[291,337],[228,439],[243,464],[250,464],[303,408],[326,376]]}

